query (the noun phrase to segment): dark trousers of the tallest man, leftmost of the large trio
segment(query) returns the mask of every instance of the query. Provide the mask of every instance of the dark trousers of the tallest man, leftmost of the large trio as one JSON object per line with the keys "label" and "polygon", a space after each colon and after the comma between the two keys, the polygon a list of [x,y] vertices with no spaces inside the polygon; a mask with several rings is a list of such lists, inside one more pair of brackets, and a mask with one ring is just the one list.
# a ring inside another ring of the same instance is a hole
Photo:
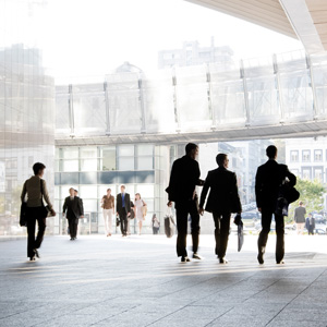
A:
{"label": "dark trousers of the tallest man, leftmost of the large trio", "polygon": [[191,234],[193,243],[193,252],[196,253],[198,249],[199,234],[199,214],[197,209],[197,201],[186,199],[175,202],[177,211],[177,255],[187,256],[186,238],[187,238],[187,218],[191,216]]}

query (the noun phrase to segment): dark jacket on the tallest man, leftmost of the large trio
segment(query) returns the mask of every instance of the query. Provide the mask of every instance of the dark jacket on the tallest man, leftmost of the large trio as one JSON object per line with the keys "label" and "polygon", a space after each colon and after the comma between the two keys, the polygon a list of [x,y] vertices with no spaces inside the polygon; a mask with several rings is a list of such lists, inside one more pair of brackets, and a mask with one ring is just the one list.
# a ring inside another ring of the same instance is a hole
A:
{"label": "dark jacket on the tallest man, leftmost of the large trio", "polygon": [[193,197],[195,186],[202,185],[199,180],[198,162],[189,156],[184,156],[174,160],[169,186],[167,187],[169,201],[179,202],[191,199]]}

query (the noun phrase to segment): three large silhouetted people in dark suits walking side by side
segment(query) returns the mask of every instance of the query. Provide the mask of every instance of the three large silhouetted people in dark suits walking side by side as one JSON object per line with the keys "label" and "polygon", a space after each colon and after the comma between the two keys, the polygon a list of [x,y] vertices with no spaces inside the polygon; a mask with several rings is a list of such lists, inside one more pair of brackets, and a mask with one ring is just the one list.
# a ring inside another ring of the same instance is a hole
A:
{"label": "three large silhouetted people in dark suits walking side by side", "polygon": [[[257,169],[255,178],[255,195],[257,209],[262,213],[262,231],[258,237],[257,261],[264,264],[264,254],[270,232],[272,215],[276,221],[276,263],[283,264],[284,255],[284,221],[283,215],[277,210],[277,202],[280,196],[280,186],[288,183],[293,187],[296,178],[286,165],[280,165],[277,159],[277,147],[270,145],[266,149],[268,161]],[[177,159],[171,169],[168,193],[168,206],[175,204],[177,211],[177,255],[181,262],[190,262],[186,251],[187,217],[191,217],[191,234],[193,242],[193,258],[202,259],[197,253],[199,235],[199,215],[204,210],[211,213],[215,222],[215,253],[220,264],[227,264],[226,250],[230,230],[231,214],[241,214],[242,206],[238,192],[237,175],[228,170],[229,159],[226,154],[218,154],[216,161],[218,168],[208,172],[206,180],[202,180],[196,158],[198,146],[189,143],[185,147],[185,156]],[[201,201],[196,186],[203,186]],[[209,193],[209,194],[208,194]],[[208,195],[207,195],[208,194]],[[207,199],[206,199],[207,198]],[[205,206],[206,203],[206,206]]]}

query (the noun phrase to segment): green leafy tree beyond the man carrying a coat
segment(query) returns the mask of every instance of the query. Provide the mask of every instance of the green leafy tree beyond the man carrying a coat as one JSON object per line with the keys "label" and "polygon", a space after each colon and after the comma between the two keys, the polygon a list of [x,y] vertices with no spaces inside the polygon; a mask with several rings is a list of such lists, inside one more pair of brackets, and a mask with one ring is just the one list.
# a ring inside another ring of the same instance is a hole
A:
{"label": "green leafy tree beyond the man carrying a coat", "polygon": [[295,189],[300,192],[300,198],[290,205],[288,217],[289,221],[293,220],[294,209],[299,206],[300,201],[304,203],[307,214],[324,209],[324,194],[327,190],[322,182],[317,180],[308,181],[298,178]]}

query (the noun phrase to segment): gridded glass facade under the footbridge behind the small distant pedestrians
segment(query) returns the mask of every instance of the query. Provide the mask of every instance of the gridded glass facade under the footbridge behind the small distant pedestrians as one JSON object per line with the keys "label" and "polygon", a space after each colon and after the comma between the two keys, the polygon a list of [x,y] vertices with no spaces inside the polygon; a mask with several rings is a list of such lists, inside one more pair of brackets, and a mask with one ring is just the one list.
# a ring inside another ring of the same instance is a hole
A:
{"label": "gridded glass facade under the footbridge behind the small distant pedestrians", "polygon": [[66,232],[66,222],[61,213],[70,187],[78,190],[84,203],[85,218],[81,220],[80,232],[100,233],[104,232],[100,199],[107,189],[111,189],[116,196],[120,193],[121,184],[126,185],[132,201],[137,192],[146,202],[148,211],[144,231],[149,232],[153,214],[161,219],[165,214],[165,189],[169,178],[169,159],[166,158],[169,158],[169,148],[153,144],[57,147],[55,205],[60,213],[56,226],[58,233]]}

